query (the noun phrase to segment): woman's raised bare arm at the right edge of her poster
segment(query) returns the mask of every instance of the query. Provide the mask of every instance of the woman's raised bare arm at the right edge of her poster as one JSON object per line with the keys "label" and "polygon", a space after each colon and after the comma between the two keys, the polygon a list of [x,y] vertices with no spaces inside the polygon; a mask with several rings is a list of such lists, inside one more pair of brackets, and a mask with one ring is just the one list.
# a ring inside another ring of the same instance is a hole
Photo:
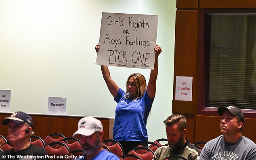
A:
{"label": "woman's raised bare arm at the right edge of her poster", "polygon": [[162,49],[159,45],[155,45],[155,64],[154,69],[150,72],[149,83],[147,84],[147,94],[149,98],[152,99],[155,97],[156,91],[156,79],[158,74],[158,55],[162,52]]}

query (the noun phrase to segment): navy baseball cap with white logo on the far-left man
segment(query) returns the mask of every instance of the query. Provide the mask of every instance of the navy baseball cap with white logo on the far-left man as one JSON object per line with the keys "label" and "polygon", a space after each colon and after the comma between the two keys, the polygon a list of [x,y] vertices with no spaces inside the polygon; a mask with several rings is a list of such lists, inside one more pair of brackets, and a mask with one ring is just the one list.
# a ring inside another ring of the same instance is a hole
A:
{"label": "navy baseball cap with white logo on the far-left man", "polygon": [[15,112],[12,115],[10,115],[10,117],[4,118],[4,120],[2,121],[2,124],[8,125],[10,120],[13,120],[15,123],[19,123],[19,124],[26,122],[33,128],[33,119],[27,113],[24,113],[21,111]]}

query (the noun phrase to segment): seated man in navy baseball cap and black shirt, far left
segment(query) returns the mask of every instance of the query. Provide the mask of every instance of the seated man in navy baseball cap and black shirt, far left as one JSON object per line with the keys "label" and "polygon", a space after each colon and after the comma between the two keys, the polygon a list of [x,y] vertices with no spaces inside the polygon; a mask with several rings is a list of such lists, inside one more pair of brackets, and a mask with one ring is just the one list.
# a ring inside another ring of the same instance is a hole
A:
{"label": "seated man in navy baseball cap and black shirt, far left", "polygon": [[[13,155],[12,160],[22,159],[19,156],[27,156],[28,159],[35,159],[36,155],[45,157],[46,150],[30,143],[29,138],[34,133],[33,119],[24,112],[15,112],[10,117],[4,118],[3,125],[8,126],[8,141],[13,148],[0,153],[0,159],[7,155]],[[44,158],[38,159],[44,159]],[[7,157],[6,157],[7,158]],[[25,158],[25,157],[23,157]],[[7,158],[8,159],[8,158]]]}

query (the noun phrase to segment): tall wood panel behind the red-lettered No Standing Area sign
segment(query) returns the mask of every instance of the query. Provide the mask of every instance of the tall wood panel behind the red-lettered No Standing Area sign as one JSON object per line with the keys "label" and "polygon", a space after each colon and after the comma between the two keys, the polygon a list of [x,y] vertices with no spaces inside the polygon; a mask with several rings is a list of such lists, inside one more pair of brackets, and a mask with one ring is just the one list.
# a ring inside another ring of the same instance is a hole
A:
{"label": "tall wood panel behind the red-lettered No Standing Area sign", "polygon": [[[180,38],[182,37],[182,38]],[[191,39],[191,37],[195,37]],[[197,53],[197,10],[177,10],[175,24],[175,48],[174,48],[174,86],[176,76],[195,77]],[[195,80],[193,78],[193,86]],[[192,99],[195,90],[192,90]],[[180,106],[181,105],[181,106]],[[184,108],[186,108],[184,110]],[[173,94],[172,112],[174,113],[194,113],[193,101],[175,101],[175,92]]]}

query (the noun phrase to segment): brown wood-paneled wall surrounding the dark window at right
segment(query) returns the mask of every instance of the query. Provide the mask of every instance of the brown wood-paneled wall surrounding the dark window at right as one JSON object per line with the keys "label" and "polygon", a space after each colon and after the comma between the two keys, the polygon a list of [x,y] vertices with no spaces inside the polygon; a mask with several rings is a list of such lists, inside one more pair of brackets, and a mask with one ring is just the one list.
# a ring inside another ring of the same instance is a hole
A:
{"label": "brown wood-paneled wall surrounding the dark window at right", "polygon": [[[227,10],[252,10],[256,9],[256,0],[176,0],[176,23],[175,23],[175,49],[174,49],[174,90],[172,101],[172,113],[185,115],[188,123],[187,135],[191,142],[199,140],[209,141],[221,135],[220,116],[216,111],[200,113],[204,107],[204,92],[198,88],[204,87],[200,84],[204,78],[199,77],[201,62],[200,47],[203,43],[200,25],[203,16],[201,9],[211,8]],[[176,76],[192,76],[192,101],[175,101]],[[246,117],[242,134],[256,142],[256,116]]]}

